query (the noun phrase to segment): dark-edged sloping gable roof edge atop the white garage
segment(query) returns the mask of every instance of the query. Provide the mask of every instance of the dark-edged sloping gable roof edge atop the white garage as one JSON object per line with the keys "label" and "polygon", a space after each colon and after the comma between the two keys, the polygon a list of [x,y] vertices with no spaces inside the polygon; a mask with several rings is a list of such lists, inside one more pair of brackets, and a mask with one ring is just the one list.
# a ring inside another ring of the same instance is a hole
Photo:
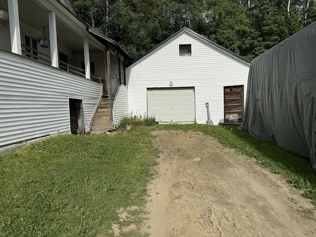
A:
{"label": "dark-edged sloping gable roof edge atop the white garage", "polygon": [[195,31],[193,30],[190,30],[189,28],[187,27],[183,27],[181,30],[177,31],[176,33],[174,33],[173,35],[171,35],[169,38],[167,38],[166,40],[163,40],[162,42],[160,42],[159,44],[157,44],[155,47],[153,47],[152,49],[150,49],[149,51],[147,51],[146,53],[144,53],[143,55],[141,55],[140,57],[138,57],[137,59],[135,59],[133,61],[133,64],[136,63],[137,61],[141,60],[142,58],[144,58],[145,56],[147,56],[148,54],[156,51],[160,46],[162,46],[163,44],[165,44],[166,42],[168,42],[169,40],[172,40],[174,37],[176,37],[177,35],[181,34],[182,32],[187,32],[189,33],[190,35],[193,35],[201,40],[204,40],[205,42],[207,42],[208,44],[211,44],[215,47],[217,47],[218,49],[220,49],[221,51],[225,52],[225,53],[228,53],[234,57],[236,57],[237,59],[241,60],[241,61],[244,61],[248,64],[251,63],[250,60],[238,55],[237,53],[234,53],[232,52],[231,50],[227,49],[227,48],[224,48],[223,46],[213,42],[212,40],[209,40],[199,34],[197,34]]}

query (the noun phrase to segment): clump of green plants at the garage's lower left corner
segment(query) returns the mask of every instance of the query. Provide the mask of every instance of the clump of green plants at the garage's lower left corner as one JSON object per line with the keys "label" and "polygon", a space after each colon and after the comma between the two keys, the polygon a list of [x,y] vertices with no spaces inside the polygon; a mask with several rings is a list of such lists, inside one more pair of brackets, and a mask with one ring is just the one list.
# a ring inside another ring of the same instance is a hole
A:
{"label": "clump of green plants at the garage's lower left corner", "polygon": [[125,127],[126,125],[132,126],[151,126],[156,124],[155,116],[148,116],[147,114],[138,115],[133,114],[121,118],[119,125]]}

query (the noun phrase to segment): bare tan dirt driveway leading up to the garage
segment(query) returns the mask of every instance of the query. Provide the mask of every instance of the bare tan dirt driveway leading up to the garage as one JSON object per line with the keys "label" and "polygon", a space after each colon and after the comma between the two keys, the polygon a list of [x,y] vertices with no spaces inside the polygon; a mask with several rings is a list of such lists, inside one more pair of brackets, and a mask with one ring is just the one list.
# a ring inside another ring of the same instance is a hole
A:
{"label": "bare tan dirt driveway leading up to the garage", "polygon": [[[313,205],[255,159],[198,132],[155,131],[150,237],[316,237]],[[199,160],[200,159],[200,160]]]}

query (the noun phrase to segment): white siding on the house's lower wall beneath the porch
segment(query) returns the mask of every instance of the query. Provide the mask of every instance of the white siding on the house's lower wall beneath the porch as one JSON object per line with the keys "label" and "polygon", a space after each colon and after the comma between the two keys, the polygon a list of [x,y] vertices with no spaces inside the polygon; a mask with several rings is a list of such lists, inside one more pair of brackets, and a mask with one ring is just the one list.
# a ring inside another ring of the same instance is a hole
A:
{"label": "white siding on the house's lower wall beneath the porch", "polygon": [[101,85],[0,52],[0,146],[70,131],[69,98],[82,100],[85,129]]}

